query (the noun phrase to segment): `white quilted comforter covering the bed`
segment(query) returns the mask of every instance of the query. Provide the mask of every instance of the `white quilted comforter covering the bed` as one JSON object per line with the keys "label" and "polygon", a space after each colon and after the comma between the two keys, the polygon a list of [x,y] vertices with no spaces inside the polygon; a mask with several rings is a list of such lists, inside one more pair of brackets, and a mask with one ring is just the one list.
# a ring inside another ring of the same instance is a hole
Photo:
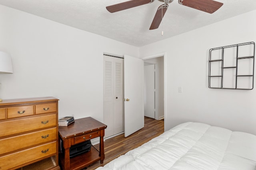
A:
{"label": "white quilted comforter covering the bed", "polygon": [[182,123],[97,170],[256,170],[256,136]]}

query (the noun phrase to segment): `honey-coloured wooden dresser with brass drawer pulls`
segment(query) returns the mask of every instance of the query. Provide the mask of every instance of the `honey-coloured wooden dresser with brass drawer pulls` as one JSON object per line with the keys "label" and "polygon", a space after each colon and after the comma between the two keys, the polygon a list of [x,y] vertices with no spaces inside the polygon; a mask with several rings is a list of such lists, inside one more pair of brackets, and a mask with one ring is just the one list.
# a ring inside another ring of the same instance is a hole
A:
{"label": "honey-coloured wooden dresser with brass drawer pulls", "polygon": [[59,170],[58,99],[0,102],[0,169]]}

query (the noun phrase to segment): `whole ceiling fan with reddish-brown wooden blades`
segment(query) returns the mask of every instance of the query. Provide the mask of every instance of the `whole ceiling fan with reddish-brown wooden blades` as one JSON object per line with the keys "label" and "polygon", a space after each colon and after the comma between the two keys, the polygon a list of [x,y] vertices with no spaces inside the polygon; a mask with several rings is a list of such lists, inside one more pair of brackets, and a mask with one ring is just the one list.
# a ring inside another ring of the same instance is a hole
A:
{"label": "whole ceiling fan with reddish-brown wooden blades", "polygon": [[[149,29],[157,29],[159,27],[164,17],[164,14],[169,6],[168,4],[170,4],[173,0],[158,0],[158,1],[163,2],[163,4],[158,7],[155,17]],[[119,3],[119,4],[107,6],[106,9],[109,12],[113,13],[113,12],[126,10],[129,8],[133,8],[136,6],[149,4],[152,2],[154,2],[154,0],[130,0],[130,1]],[[214,0],[178,0],[178,2],[181,5],[188,6],[196,10],[201,10],[203,12],[207,12],[210,14],[214,13],[223,5],[223,3],[217,2]]]}

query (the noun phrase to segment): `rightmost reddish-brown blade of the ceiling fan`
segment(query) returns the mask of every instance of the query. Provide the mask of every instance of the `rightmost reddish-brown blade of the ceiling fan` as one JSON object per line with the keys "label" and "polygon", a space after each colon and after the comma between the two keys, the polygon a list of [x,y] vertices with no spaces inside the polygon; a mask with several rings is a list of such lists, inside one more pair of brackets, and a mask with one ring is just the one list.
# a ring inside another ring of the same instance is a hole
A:
{"label": "rightmost reddish-brown blade of the ceiling fan", "polygon": [[223,3],[214,0],[179,0],[179,4],[210,14],[214,13],[223,5]]}

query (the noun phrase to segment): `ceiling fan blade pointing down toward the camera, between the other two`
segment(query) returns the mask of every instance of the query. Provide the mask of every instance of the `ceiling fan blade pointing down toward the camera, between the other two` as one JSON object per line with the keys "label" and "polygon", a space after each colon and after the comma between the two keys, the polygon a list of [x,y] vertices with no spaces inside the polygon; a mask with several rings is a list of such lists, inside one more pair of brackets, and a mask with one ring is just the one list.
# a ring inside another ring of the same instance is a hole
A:
{"label": "ceiling fan blade pointing down toward the camera, between the other two", "polygon": [[162,21],[162,18],[164,18],[164,14],[168,8],[168,4],[160,5],[159,8],[156,11],[155,17],[150,25],[151,29],[157,29]]}

